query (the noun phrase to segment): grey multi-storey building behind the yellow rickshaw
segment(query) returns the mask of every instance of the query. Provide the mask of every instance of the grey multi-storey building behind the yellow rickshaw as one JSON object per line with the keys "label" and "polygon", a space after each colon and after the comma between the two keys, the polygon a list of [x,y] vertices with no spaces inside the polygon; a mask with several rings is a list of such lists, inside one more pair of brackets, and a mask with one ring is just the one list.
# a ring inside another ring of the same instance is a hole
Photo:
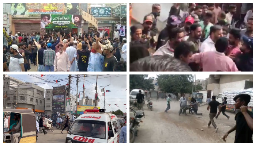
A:
{"label": "grey multi-storey building behind the yellow rickshaw", "polygon": [[22,82],[13,77],[4,77],[4,108],[35,109],[44,112],[45,89],[29,82]]}

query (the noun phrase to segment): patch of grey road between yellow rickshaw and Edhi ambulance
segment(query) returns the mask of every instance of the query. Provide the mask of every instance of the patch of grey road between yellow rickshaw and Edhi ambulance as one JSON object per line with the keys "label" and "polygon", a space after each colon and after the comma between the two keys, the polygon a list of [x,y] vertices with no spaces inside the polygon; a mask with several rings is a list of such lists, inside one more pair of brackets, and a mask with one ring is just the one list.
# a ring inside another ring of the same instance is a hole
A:
{"label": "patch of grey road between yellow rickshaw and Edhi ambulance", "polygon": [[55,126],[53,127],[54,131],[48,131],[46,135],[39,131],[37,143],[65,143],[67,129],[65,129],[63,134],[61,134],[60,128],[57,129]]}

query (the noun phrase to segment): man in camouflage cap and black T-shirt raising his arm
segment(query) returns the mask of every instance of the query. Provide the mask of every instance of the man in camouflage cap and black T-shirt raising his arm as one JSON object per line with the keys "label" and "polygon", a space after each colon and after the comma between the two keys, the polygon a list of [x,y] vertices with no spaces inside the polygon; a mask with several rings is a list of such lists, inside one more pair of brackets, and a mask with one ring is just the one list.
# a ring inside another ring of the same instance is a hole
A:
{"label": "man in camouflage cap and black T-shirt raising his arm", "polygon": [[96,39],[96,44],[94,49],[97,52],[99,52],[99,54],[102,54],[102,56],[104,56],[102,72],[113,72],[114,63],[117,62],[116,57],[113,56],[114,48],[113,46],[107,44],[101,47],[101,49],[103,49],[102,51],[101,49],[99,49],[99,41],[101,40],[102,40],[101,38]]}

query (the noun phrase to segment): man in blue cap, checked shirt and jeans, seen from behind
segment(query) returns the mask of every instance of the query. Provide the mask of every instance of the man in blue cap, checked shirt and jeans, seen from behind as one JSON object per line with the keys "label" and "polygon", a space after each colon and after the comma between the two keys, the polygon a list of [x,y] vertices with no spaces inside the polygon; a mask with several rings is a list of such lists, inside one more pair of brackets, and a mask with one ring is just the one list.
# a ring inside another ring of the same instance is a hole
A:
{"label": "man in blue cap, checked shirt and jeans, seen from behind", "polygon": [[55,51],[51,49],[52,44],[48,43],[47,49],[44,50],[44,66],[45,66],[45,71],[49,72],[54,72],[54,58],[55,58]]}

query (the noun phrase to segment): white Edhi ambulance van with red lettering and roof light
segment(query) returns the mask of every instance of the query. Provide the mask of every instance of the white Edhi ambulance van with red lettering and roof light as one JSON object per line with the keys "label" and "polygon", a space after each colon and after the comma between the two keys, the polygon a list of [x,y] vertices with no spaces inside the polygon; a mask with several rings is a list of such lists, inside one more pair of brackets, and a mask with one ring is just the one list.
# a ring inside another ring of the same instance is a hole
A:
{"label": "white Edhi ambulance van with red lettering and roof light", "polygon": [[116,115],[98,109],[86,112],[70,127],[66,143],[119,143],[121,125]]}

